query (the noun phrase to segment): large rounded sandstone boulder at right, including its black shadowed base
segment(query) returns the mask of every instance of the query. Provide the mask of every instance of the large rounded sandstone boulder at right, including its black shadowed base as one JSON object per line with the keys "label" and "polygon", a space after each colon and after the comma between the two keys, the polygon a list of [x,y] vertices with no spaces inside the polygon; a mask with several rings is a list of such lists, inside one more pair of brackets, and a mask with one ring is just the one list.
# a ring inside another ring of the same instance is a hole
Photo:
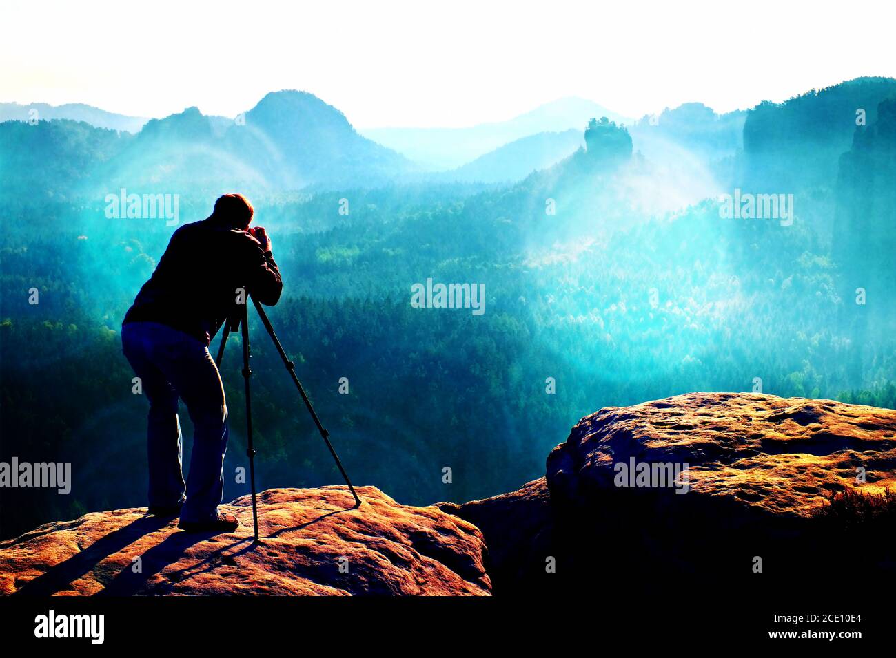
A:
{"label": "large rounded sandstone boulder at right, including its black shadowed base", "polygon": [[[689,490],[616,486],[632,459],[687,463]],[[767,596],[896,576],[892,528],[813,515],[835,491],[896,489],[889,409],[750,393],[607,407],[551,452],[547,486],[568,584],[722,579]]]}

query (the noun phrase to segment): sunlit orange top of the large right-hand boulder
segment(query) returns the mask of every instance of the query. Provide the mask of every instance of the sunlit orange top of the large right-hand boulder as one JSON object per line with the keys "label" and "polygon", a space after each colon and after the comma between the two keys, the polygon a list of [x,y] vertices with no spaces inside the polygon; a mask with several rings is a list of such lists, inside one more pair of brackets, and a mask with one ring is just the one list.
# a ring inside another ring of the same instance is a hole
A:
{"label": "sunlit orange top of the large right-hand boulder", "polygon": [[[552,496],[613,488],[614,464],[686,462],[691,491],[805,517],[832,491],[896,491],[896,411],[754,393],[690,393],[608,406],[547,459]],[[864,469],[866,482],[857,479]]]}

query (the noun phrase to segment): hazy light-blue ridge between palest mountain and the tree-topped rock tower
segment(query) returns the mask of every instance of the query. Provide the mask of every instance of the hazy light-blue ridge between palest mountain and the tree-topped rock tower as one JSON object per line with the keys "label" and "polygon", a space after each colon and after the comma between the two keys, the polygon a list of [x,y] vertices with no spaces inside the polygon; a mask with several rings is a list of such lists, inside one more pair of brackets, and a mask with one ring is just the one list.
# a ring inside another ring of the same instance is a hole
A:
{"label": "hazy light-blue ridge between palest mountain and the tree-topped rock tower", "polygon": [[581,130],[538,132],[504,144],[462,167],[438,175],[438,180],[468,183],[519,181],[533,171],[556,164],[582,148]]}

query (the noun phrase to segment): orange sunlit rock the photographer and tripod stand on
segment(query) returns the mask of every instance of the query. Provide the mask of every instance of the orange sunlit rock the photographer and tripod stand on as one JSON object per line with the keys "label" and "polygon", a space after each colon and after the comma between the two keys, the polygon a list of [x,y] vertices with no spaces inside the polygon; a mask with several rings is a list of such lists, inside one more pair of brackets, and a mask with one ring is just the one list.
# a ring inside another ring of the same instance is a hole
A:
{"label": "orange sunlit rock the photographer and tripod stand on", "polygon": [[351,509],[345,487],[263,491],[259,545],[248,496],[222,506],[242,524],[232,534],[186,534],[145,508],[47,524],[0,543],[0,593],[490,594],[476,527],[358,493]]}

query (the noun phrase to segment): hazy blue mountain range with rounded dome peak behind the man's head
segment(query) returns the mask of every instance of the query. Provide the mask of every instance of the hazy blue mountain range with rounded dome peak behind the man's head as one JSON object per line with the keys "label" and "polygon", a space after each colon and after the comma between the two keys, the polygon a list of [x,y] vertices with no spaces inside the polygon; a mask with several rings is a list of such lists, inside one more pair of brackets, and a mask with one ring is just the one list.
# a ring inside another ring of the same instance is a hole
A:
{"label": "hazy blue mountain range with rounded dome peak behind the man's head", "polygon": [[188,107],[151,119],[133,136],[68,120],[0,124],[0,171],[25,172],[0,190],[26,181],[26,189],[63,196],[120,187],[170,193],[373,187],[416,170],[359,135],[335,107],[301,91],[268,94],[238,120]]}

